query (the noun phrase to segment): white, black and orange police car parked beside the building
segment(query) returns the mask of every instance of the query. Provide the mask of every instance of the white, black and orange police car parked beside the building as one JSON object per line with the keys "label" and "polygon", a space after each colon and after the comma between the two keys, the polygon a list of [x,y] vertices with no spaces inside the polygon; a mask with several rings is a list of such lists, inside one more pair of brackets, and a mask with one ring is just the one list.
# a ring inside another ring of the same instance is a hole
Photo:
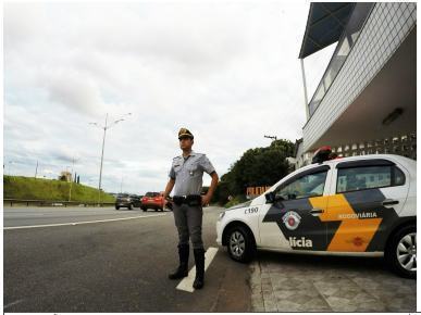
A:
{"label": "white, black and orange police car parked beside the building", "polygon": [[384,254],[395,273],[414,278],[416,161],[392,154],[323,155],[315,154],[317,163],[284,177],[264,194],[221,213],[216,242],[238,262],[250,261],[257,249]]}

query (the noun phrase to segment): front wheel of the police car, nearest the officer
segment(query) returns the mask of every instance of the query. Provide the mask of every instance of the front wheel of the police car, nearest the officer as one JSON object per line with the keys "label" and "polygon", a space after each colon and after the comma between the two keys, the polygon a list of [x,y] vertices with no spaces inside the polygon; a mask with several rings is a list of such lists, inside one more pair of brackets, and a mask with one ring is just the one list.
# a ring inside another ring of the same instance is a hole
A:
{"label": "front wheel of the police car, nearest the officer", "polygon": [[256,254],[256,242],[250,231],[243,226],[234,226],[226,234],[226,248],[232,260],[250,262]]}

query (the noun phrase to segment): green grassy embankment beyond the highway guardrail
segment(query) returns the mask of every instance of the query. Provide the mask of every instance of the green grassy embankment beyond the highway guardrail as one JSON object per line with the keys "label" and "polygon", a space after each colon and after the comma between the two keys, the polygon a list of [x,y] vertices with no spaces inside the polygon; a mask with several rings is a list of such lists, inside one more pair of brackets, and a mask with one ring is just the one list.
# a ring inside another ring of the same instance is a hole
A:
{"label": "green grassy embankment beyond the highway guardrail", "polygon": [[[24,176],[3,176],[4,199],[69,201],[71,182]],[[101,192],[102,202],[114,202],[114,197]],[[73,182],[71,201],[98,202],[98,189]]]}

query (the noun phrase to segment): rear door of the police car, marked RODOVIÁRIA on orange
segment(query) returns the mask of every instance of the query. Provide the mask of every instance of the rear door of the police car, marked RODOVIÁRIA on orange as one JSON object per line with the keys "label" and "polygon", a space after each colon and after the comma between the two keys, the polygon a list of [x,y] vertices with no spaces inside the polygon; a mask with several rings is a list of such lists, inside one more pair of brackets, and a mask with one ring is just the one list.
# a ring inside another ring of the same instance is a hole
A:
{"label": "rear door of the police car, marked RODOVI\u00c1RIA on orange", "polygon": [[321,219],[327,224],[327,251],[383,251],[386,232],[398,219],[407,194],[405,169],[383,159],[338,163],[335,193]]}

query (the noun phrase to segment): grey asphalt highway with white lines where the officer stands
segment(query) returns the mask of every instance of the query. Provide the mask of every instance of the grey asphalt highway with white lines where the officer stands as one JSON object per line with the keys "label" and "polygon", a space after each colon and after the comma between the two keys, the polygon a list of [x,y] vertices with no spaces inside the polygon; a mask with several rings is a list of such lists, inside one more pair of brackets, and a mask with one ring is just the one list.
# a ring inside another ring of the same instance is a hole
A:
{"label": "grey asphalt highway with white lines where the officer stands", "polygon": [[[207,248],[218,248],[220,211],[205,210]],[[137,218],[87,223],[127,217]],[[85,224],[7,229],[77,222]],[[251,310],[249,267],[233,262],[221,248],[207,269],[202,290],[181,291],[178,280],[168,279],[177,264],[171,212],[5,207],[4,226],[5,312]],[[189,265],[194,266],[193,254]]]}

